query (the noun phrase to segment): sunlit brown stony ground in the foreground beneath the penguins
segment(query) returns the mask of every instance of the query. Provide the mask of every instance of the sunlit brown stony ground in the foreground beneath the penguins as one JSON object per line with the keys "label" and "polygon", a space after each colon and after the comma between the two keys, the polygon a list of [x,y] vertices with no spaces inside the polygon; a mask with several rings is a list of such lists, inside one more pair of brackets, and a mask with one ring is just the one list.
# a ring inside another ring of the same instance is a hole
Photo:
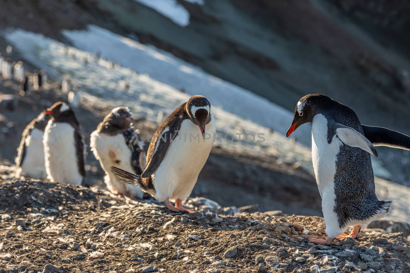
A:
{"label": "sunlit brown stony ground in the foreground beneath the penguins", "polygon": [[403,232],[302,242],[325,236],[320,217],[233,215],[203,198],[187,201],[195,214],[170,213],[156,201],[41,180],[3,180],[0,203],[0,273],[410,272]]}

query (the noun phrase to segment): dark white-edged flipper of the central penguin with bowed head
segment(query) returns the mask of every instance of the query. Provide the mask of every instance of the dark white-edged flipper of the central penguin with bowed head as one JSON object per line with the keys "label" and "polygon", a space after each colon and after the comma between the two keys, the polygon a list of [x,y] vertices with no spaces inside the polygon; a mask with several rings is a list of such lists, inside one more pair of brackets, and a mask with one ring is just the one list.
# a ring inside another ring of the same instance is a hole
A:
{"label": "dark white-edged flipper of the central penguin with bowed head", "polygon": [[171,146],[172,141],[178,135],[178,131],[175,131],[169,127],[166,127],[164,131],[161,135],[158,135],[157,141],[155,142],[155,149],[153,151],[151,159],[146,165],[145,170],[141,174],[141,177],[143,178],[149,177],[158,169],[166,153],[168,152],[168,149]]}

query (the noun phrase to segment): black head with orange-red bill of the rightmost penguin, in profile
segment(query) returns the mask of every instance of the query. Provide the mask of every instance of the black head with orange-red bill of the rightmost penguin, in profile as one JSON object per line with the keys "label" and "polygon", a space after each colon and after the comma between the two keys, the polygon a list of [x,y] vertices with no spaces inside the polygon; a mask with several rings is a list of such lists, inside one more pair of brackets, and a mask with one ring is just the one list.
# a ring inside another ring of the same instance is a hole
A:
{"label": "black head with orange-red bill of the rightmost penguin, in profile", "polygon": [[333,99],[322,94],[310,94],[299,99],[295,107],[292,124],[286,132],[288,137],[299,126],[307,122],[312,122],[313,117],[320,111],[334,103]]}

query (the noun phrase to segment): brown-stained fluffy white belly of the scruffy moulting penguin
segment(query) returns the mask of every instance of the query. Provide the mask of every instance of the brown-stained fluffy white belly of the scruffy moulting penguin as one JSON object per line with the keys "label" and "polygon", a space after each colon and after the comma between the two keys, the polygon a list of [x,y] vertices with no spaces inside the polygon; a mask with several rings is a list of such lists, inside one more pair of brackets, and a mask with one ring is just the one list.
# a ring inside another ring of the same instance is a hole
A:
{"label": "brown-stained fluffy white belly of the scruffy moulting penguin", "polygon": [[144,192],[137,185],[130,185],[119,180],[111,171],[115,166],[132,174],[135,174],[131,165],[131,150],[125,142],[122,134],[107,135],[94,131],[91,133],[90,147],[94,156],[100,161],[105,171],[104,182],[110,192],[125,196],[136,196],[142,199]]}

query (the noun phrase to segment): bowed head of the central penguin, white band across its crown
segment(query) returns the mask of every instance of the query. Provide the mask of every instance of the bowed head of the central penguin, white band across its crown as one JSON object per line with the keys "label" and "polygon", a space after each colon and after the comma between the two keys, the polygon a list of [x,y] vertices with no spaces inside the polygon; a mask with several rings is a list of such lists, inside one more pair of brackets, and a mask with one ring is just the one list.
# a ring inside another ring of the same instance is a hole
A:
{"label": "bowed head of the central penguin, white band across its crown", "polygon": [[204,96],[195,95],[188,100],[186,107],[189,118],[199,126],[202,135],[204,135],[205,126],[211,121],[210,102]]}

